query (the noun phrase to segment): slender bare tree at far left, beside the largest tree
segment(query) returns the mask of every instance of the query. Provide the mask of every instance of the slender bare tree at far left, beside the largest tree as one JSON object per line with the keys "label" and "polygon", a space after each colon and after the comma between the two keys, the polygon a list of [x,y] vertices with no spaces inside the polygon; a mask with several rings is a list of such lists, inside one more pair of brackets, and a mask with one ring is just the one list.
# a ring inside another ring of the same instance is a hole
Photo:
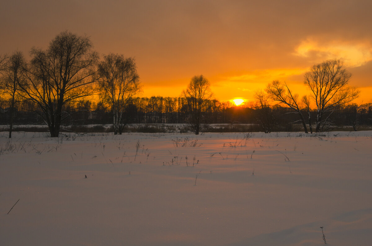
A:
{"label": "slender bare tree at far left, beside the largest tree", "polygon": [[25,64],[22,52],[14,52],[5,63],[3,76],[0,80],[1,92],[9,100],[9,138],[12,137],[14,111],[16,103],[19,101],[20,85],[25,84],[23,76]]}

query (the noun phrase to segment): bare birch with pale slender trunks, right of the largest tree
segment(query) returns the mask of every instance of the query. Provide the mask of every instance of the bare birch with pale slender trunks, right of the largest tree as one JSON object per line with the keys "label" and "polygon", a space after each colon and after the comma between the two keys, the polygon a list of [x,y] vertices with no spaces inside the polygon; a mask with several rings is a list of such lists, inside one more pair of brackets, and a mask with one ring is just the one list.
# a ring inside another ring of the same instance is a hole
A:
{"label": "bare birch with pale slender trunks, right of the largest tree", "polygon": [[98,75],[100,97],[113,113],[114,134],[121,134],[128,102],[141,91],[135,59],[118,54],[105,55],[98,65]]}

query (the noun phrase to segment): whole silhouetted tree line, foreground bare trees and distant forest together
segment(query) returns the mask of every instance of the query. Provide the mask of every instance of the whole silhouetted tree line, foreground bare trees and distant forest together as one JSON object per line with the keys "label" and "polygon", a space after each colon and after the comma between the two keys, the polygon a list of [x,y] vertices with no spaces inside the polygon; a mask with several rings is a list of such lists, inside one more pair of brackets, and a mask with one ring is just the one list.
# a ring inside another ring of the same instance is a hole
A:
{"label": "whole silhouetted tree line, foreground bare trees and distant forest together", "polygon": [[[304,75],[309,94],[299,98],[285,82],[273,81],[244,106],[213,99],[203,75],[191,78],[180,97],[138,97],[142,89],[134,58],[100,59],[86,36],[56,35],[47,49],[0,56],[0,123],[44,123],[51,137],[65,124],[107,124],[121,134],[128,123],[187,123],[195,134],[211,123],[256,124],[260,130],[321,132],[336,125],[370,125],[371,105],[359,96],[340,60],[316,64]],[[94,95],[98,98],[94,99]],[[257,129],[258,130],[258,129]]]}

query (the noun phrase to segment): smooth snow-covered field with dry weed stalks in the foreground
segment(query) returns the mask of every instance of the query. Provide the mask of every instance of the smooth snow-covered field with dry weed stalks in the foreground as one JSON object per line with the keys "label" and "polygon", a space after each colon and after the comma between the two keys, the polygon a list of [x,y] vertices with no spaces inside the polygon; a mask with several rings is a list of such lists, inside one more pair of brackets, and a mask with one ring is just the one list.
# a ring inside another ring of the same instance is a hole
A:
{"label": "smooth snow-covered field with dry weed stalks in the foreground", "polygon": [[2,246],[372,244],[371,131],[46,136],[0,133]]}

